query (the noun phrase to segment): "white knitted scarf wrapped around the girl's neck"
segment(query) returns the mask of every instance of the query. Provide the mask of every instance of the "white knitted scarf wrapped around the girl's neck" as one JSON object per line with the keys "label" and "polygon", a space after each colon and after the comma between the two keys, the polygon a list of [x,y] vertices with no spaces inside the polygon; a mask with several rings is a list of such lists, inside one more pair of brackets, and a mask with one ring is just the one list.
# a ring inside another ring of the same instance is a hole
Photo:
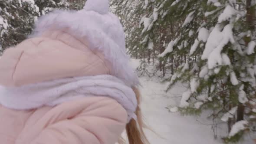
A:
{"label": "white knitted scarf wrapped around the girl's neck", "polygon": [[59,79],[21,87],[0,86],[0,104],[17,110],[56,106],[82,97],[105,96],[115,99],[136,118],[136,95],[131,87],[112,75]]}

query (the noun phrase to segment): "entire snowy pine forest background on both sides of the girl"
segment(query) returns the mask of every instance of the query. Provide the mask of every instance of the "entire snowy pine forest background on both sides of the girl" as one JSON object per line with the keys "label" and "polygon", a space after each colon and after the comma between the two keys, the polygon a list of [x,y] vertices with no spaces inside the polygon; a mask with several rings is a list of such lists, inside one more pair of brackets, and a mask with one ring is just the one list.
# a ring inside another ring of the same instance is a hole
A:
{"label": "entire snowy pine forest background on both sides of the girl", "polygon": [[[26,39],[39,16],[55,8],[81,10],[84,3],[0,0],[0,52]],[[219,124],[227,128],[223,143],[255,134],[256,0],[110,0],[110,5],[124,25],[127,52],[141,61],[138,73],[158,77],[167,92],[185,85],[180,104],[167,107],[170,112],[207,111],[215,138]]]}

